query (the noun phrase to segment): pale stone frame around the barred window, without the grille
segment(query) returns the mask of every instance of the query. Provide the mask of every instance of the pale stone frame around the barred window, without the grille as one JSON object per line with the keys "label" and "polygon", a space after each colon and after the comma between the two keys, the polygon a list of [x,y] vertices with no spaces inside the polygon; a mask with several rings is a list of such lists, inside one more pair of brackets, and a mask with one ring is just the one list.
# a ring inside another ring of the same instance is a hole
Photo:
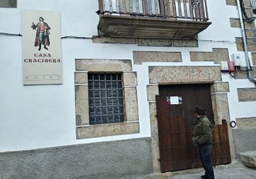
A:
{"label": "pale stone frame around the barred window, without the grille", "polygon": [[[90,125],[88,72],[121,73],[124,98],[124,122]],[[76,96],[76,139],[140,133],[137,75],[129,59],[76,59],[74,73]]]}

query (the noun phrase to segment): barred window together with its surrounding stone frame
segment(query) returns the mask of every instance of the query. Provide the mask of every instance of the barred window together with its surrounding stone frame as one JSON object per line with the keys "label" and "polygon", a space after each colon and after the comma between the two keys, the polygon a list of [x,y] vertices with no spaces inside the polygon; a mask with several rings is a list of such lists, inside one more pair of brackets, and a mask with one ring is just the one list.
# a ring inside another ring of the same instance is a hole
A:
{"label": "barred window together with its surrounding stone frame", "polygon": [[140,132],[131,59],[76,59],[76,138]]}

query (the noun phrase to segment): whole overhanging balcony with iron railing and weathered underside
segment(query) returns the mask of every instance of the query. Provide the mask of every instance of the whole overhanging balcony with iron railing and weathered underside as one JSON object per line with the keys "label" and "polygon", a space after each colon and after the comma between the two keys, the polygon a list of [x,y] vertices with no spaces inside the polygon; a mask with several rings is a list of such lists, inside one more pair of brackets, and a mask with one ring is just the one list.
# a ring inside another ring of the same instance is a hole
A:
{"label": "whole overhanging balcony with iron railing and weathered underside", "polygon": [[193,38],[211,22],[206,0],[99,0],[101,36]]}

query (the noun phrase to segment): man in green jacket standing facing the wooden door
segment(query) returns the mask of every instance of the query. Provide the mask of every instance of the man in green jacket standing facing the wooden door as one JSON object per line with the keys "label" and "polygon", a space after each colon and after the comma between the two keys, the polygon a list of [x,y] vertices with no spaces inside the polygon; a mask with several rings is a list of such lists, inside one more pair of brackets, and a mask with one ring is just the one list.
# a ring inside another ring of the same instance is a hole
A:
{"label": "man in green jacket standing facing the wooden door", "polygon": [[205,169],[205,175],[201,178],[214,179],[214,172],[211,164],[212,128],[211,122],[205,116],[205,109],[202,106],[195,107],[196,125],[193,130],[193,143],[198,145],[200,159]]}

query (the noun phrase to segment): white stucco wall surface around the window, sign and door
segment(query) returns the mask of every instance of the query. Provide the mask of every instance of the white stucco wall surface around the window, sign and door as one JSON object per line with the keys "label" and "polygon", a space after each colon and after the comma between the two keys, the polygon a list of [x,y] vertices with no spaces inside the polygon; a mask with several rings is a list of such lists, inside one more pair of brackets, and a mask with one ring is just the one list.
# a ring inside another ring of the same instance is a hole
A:
{"label": "white stucco wall surface around the window, sign and door", "polygon": [[[219,10],[221,8],[221,10]],[[49,10],[61,14],[61,36],[97,35],[99,16],[96,0],[19,0],[17,8],[0,8],[0,32],[22,34],[22,10]],[[62,39],[63,84],[23,86],[22,37],[0,35],[0,152],[29,150],[69,144],[92,143],[150,136],[147,90],[148,65],[214,65],[213,62],[191,62],[189,51],[236,50],[235,37],[240,29],[231,28],[229,18],[237,17],[236,6],[225,0],[208,1],[211,26],[200,33],[198,48],[138,47],[137,45],[92,43],[92,40]],[[211,42],[212,40],[212,42]],[[228,41],[228,42],[214,42]],[[140,134],[76,139],[74,72],[76,58],[132,59],[132,51],[182,52],[182,63],[143,63],[133,65],[138,75]],[[245,62],[243,63],[245,65]],[[252,88],[248,79],[234,80],[223,74],[230,84],[228,102],[230,118],[255,117],[256,102],[238,102],[237,88]]]}

